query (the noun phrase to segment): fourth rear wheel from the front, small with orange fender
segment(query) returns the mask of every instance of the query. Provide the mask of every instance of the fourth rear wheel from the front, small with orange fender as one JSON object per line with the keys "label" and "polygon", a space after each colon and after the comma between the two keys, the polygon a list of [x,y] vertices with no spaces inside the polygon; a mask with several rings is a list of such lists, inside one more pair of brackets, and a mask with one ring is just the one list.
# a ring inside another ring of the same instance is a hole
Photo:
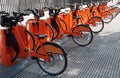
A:
{"label": "fourth rear wheel from the front, small with orange fender", "polygon": [[102,17],[104,23],[110,23],[113,20],[113,15],[109,11],[103,12],[101,15],[106,16],[104,18]]}

